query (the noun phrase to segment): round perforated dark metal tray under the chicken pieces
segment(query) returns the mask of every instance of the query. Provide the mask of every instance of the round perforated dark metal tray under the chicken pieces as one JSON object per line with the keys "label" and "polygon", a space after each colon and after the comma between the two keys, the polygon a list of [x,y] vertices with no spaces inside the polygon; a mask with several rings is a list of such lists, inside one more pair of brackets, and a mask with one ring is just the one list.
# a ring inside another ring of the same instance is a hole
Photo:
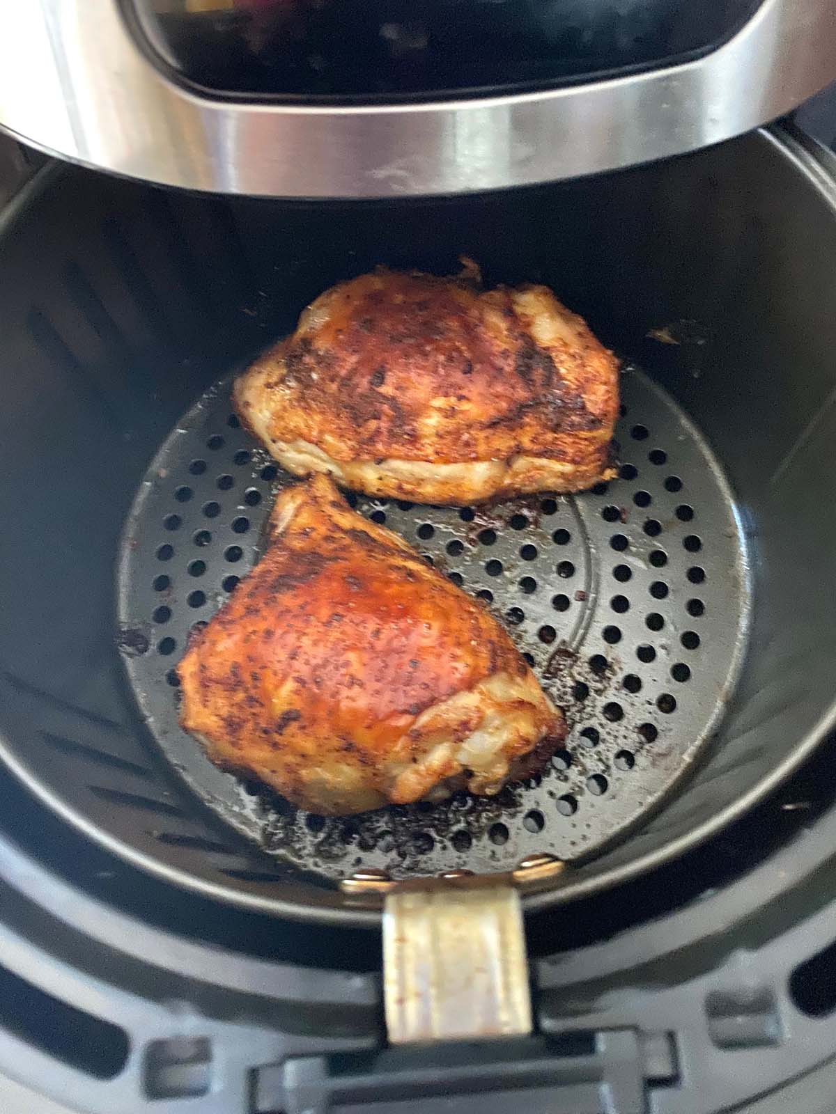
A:
{"label": "round perforated dark metal tray under the chicken pieces", "polygon": [[217,770],[177,722],[174,665],[257,560],[292,482],[240,428],[230,382],[177,424],[143,480],[119,568],[121,646],[148,726],[192,789],[268,852],[320,878],[511,869],[592,854],[677,785],[722,716],[746,641],[747,560],[722,472],[684,414],[623,375],[620,479],[575,497],[438,508],[349,495],[512,632],[571,734],[496,798],[323,818]]}

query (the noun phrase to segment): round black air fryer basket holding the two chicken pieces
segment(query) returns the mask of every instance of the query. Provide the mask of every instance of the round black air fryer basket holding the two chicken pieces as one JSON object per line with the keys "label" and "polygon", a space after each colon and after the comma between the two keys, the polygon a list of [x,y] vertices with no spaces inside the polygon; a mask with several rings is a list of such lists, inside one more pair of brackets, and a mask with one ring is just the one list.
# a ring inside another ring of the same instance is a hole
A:
{"label": "round black air fryer basket holding the two chicken pieces", "polygon": [[[2,756],[147,871],[279,916],[375,925],[392,878],[568,866],[528,909],[718,831],[834,717],[829,162],[757,133],[618,175],[402,203],[216,199],[55,168],[0,242]],[[38,243],[38,253],[32,252]],[[624,359],[621,476],[573,498],[361,499],[508,625],[565,750],[493,801],[324,820],[221,773],[173,666],[288,482],[230,378],[378,263],[552,285]]]}

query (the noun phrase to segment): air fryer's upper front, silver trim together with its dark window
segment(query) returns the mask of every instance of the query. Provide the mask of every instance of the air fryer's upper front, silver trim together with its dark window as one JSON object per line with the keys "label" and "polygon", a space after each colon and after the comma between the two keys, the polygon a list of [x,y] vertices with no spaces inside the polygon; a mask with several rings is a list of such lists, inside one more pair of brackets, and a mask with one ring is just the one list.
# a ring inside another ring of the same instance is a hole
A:
{"label": "air fryer's upper front, silver trim together with its dark window", "polygon": [[117,174],[224,193],[557,180],[738,135],[836,76],[833,0],[23,9],[0,35],[0,126]]}

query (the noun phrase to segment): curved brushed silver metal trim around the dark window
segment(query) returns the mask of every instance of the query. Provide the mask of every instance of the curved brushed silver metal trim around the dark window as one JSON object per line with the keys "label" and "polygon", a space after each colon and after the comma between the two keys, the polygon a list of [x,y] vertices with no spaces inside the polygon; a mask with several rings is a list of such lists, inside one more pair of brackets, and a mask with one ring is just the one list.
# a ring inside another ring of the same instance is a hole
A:
{"label": "curved brushed silver metal trim around the dark window", "polygon": [[[48,154],[187,189],[459,194],[683,154],[836,77],[836,0],[764,0],[702,58],[506,97],[340,107],[207,99],[169,80],[115,0],[0,0],[0,126]],[[13,29],[13,31],[12,31]]]}

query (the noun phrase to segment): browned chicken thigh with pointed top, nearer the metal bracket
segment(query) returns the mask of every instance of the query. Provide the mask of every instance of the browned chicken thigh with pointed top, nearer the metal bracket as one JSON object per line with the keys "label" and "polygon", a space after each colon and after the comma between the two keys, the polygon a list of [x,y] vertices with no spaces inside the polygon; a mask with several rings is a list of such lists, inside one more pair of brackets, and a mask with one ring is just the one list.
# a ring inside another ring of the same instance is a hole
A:
{"label": "browned chicken thigh with pointed top, nearer the metal bracket", "polygon": [[325,476],[286,488],[264,556],[178,666],[213,762],[320,813],[495,793],[562,714],[506,632]]}

